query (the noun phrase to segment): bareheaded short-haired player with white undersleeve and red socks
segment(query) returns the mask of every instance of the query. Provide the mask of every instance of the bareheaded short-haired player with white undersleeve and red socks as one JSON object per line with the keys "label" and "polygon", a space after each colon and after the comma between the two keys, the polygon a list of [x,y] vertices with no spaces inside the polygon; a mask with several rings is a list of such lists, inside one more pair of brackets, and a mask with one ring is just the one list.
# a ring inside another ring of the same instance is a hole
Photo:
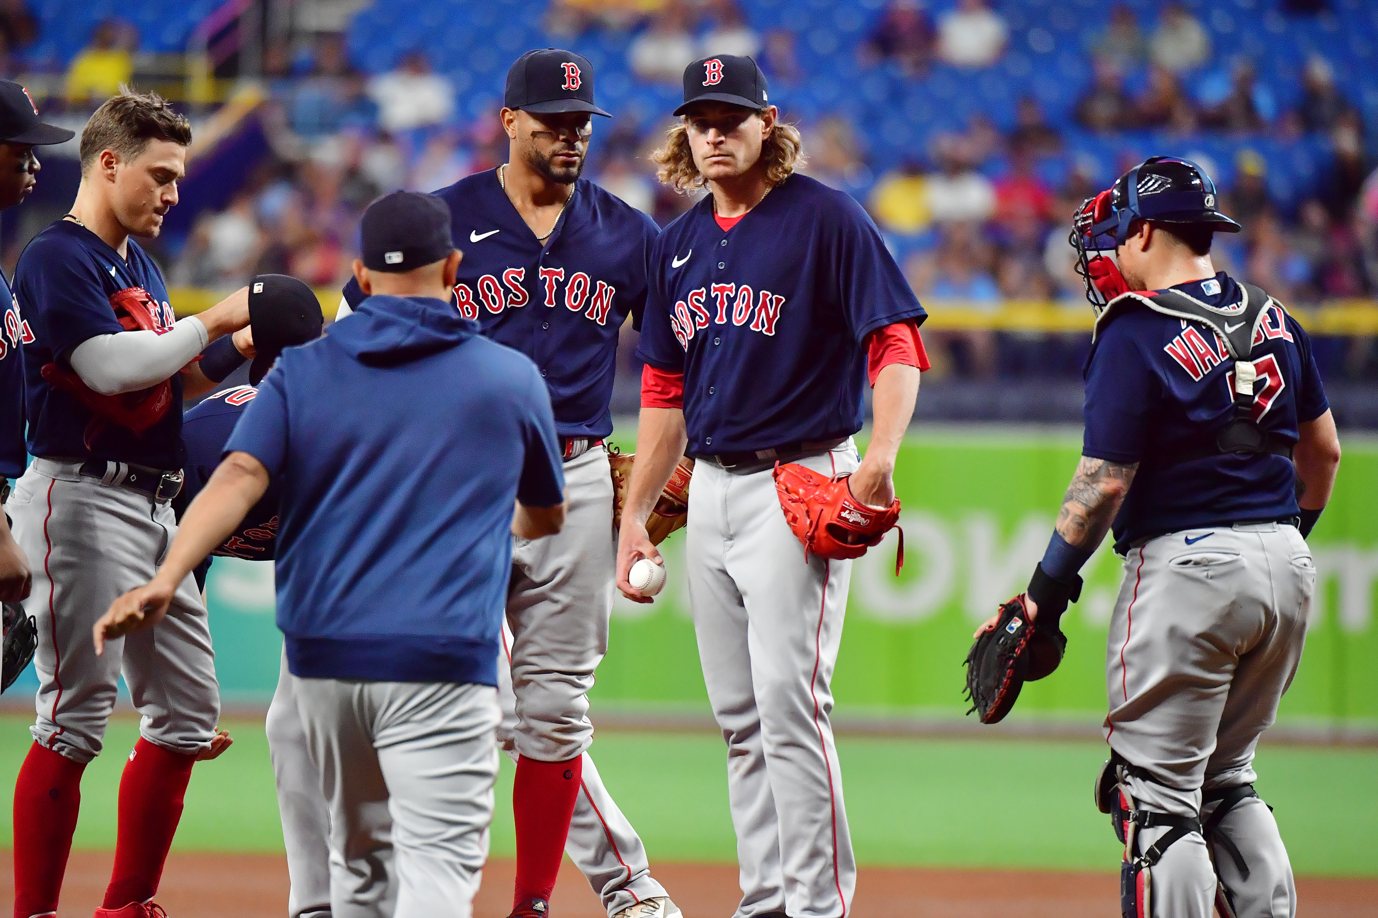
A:
{"label": "bareheaded short-haired player with white undersleeve and red socks", "polygon": [[[34,560],[25,611],[37,619],[34,743],[14,790],[15,915],[58,907],[81,772],[101,753],[123,674],[142,721],[120,782],[114,870],[102,918],[153,914],[153,897],[198,757],[227,745],[205,608],[190,578],[157,632],[95,657],[91,625],[145,582],[176,531],[183,395],[214,383],[193,361],[236,348],[238,290],[174,322],[163,277],[130,237],[154,237],[176,204],[190,127],[154,95],[120,94],[81,132],[72,212],[15,271],[25,311],[28,450],[7,505]],[[207,345],[209,344],[209,348]]]}

